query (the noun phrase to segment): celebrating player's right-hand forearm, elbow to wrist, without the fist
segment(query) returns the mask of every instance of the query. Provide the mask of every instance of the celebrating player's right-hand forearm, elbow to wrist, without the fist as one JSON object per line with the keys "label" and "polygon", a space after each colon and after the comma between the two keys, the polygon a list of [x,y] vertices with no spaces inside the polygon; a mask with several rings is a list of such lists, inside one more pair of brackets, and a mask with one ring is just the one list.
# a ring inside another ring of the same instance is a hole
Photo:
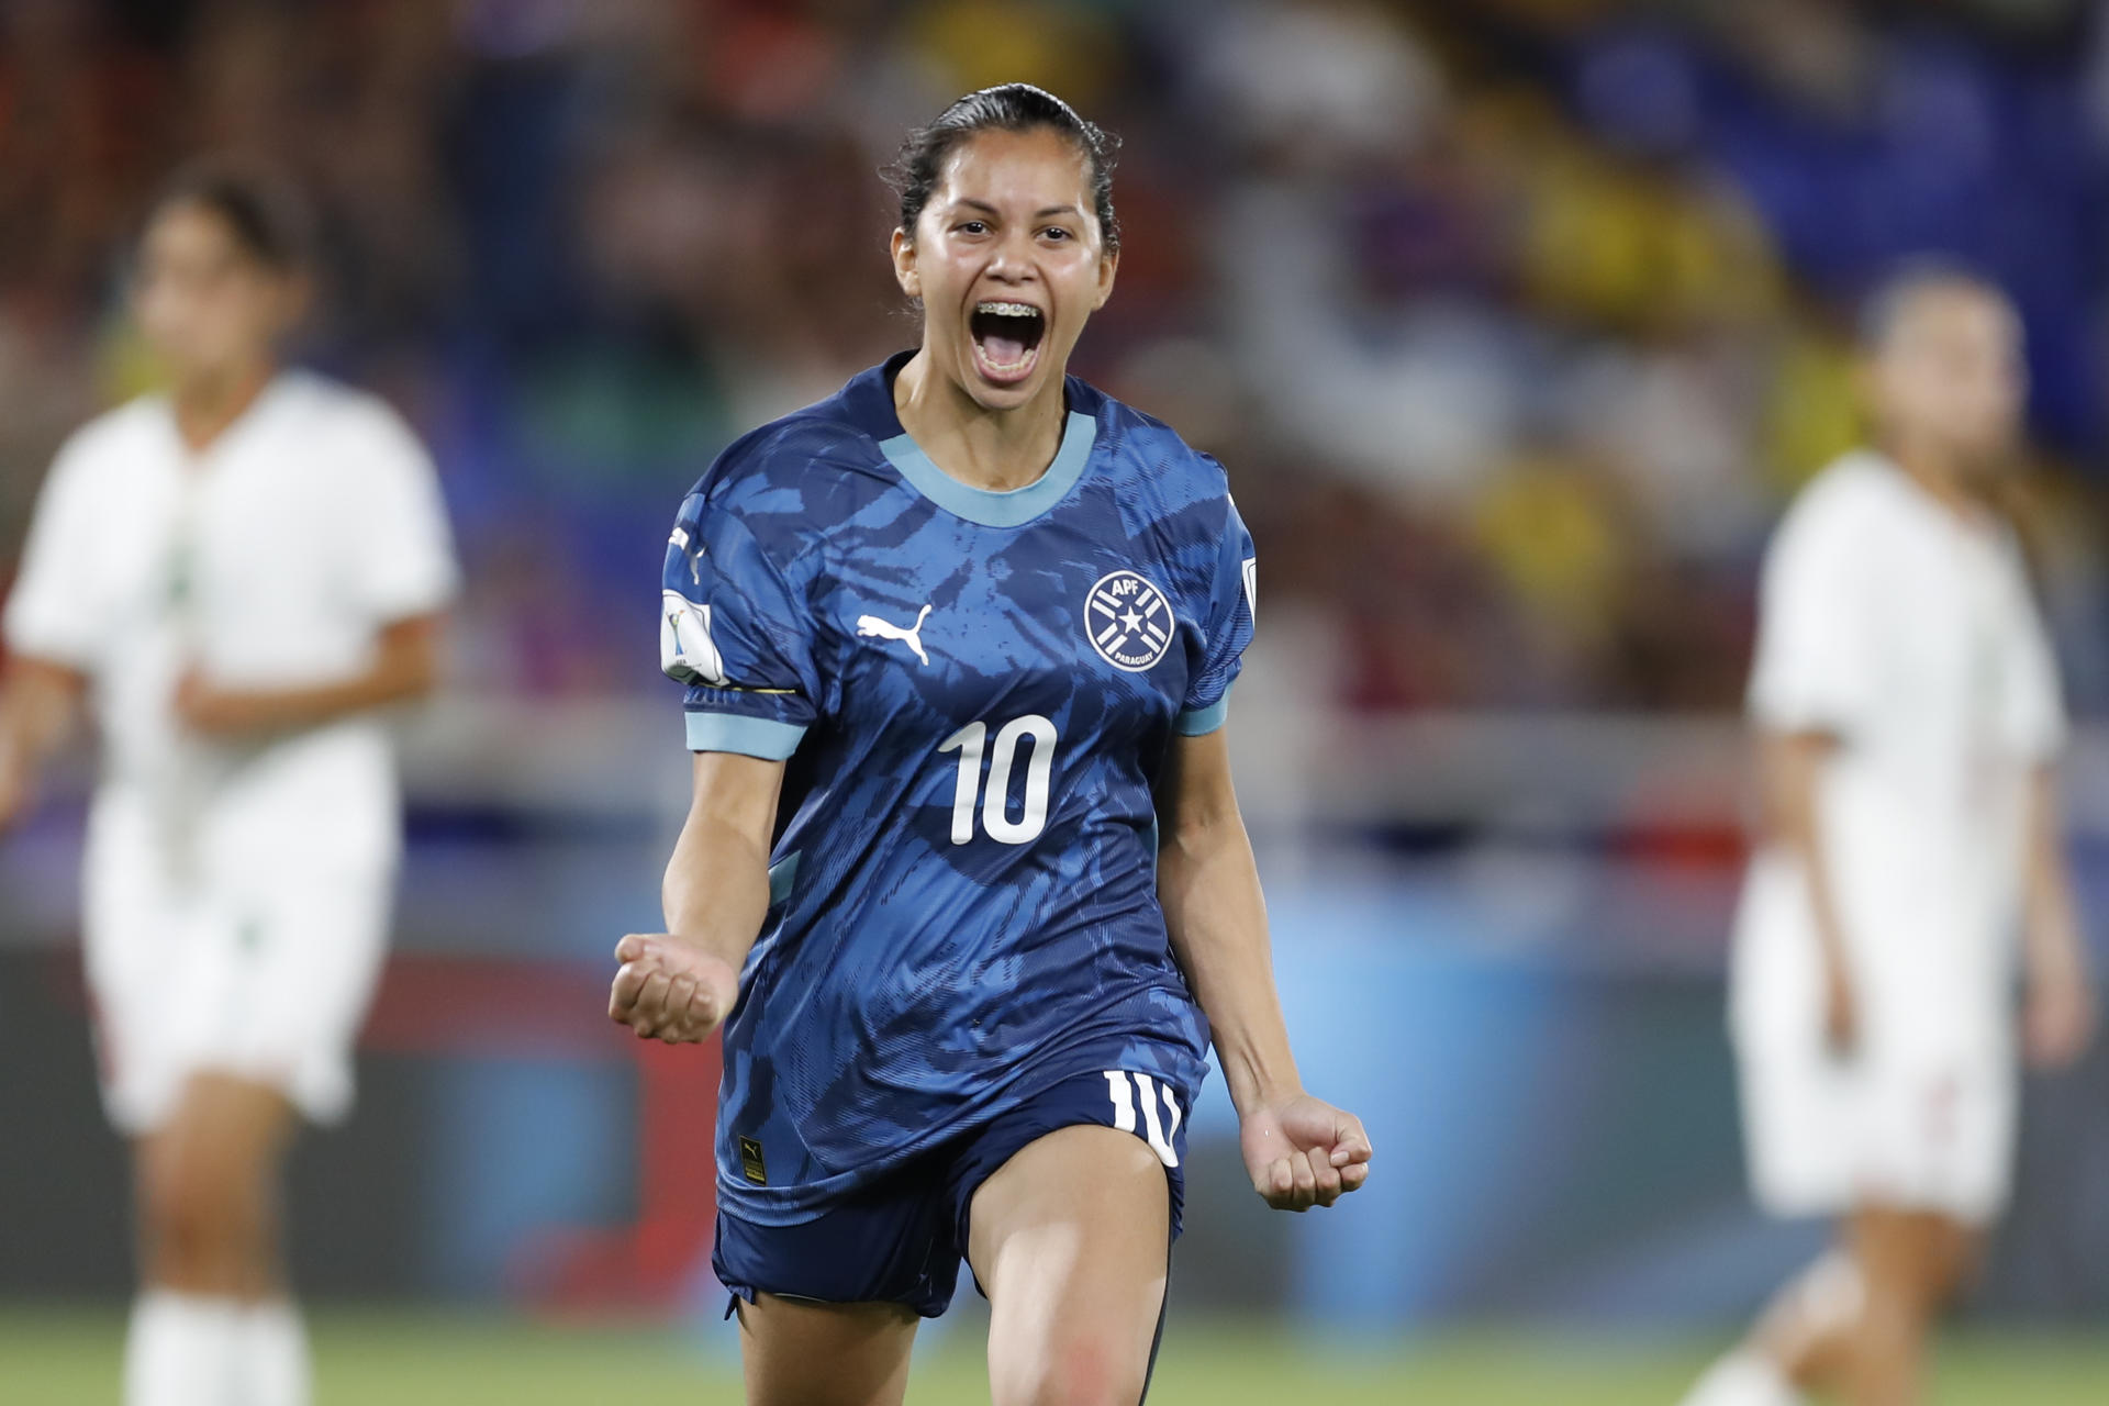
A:
{"label": "celebrating player's right-hand forearm, elbow to wrist, without the fist", "polygon": [[1268,909],[1236,807],[1192,816],[1158,854],[1158,902],[1173,955],[1208,1016],[1238,1113],[1303,1090],[1274,987]]}

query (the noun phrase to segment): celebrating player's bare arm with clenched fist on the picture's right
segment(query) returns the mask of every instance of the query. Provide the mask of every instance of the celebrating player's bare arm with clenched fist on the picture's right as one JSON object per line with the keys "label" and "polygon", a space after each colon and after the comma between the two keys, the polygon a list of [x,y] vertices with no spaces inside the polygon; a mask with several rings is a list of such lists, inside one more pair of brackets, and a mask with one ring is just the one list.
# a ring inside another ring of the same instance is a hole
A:
{"label": "celebrating player's bare arm with clenched fist on the picture's right", "polygon": [[1369,1134],[1352,1113],[1305,1094],[1297,1075],[1225,729],[1173,738],[1158,826],[1158,900],[1215,1031],[1253,1189],[1278,1210],[1331,1206],[1369,1178]]}

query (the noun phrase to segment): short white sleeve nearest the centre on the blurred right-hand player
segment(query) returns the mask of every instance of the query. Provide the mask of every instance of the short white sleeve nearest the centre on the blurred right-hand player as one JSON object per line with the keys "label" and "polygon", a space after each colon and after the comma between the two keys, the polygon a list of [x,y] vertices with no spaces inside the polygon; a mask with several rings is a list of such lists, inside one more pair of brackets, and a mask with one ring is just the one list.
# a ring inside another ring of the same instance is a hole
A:
{"label": "short white sleeve nearest the centre on the blurred right-hand player", "polygon": [[1748,704],[1772,731],[1843,738],[1869,715],[1875,658],[1862,582],[1873,542],[1845,506],[1835,495],[1803,500],[1765,554]]}

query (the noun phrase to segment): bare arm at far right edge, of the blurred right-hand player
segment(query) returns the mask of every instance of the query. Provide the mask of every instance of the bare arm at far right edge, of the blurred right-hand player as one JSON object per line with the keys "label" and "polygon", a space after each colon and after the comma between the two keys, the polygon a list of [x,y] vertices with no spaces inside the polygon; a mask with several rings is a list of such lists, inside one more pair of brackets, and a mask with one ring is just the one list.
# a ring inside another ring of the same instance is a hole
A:
{"label": "bare arm at far right edge, of the blurred right-hand player", "polygon": [[2094,978],[2065,860],[2063,805],[2056,772],[2039,763],[2029,776],[2027,833],[2027,1010],[2023,1041],[2029,1060],[2063,1069],[2094,1035]]}

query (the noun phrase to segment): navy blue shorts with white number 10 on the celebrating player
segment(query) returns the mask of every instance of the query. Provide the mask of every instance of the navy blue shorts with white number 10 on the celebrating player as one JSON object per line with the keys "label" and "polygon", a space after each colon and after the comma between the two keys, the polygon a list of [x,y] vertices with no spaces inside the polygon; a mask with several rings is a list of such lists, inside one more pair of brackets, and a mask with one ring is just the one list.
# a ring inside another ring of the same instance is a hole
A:
{"label": "navy blue shorts with white number 10 on the celebrating player", "polygon": [[[960,1282],[974,1191],[1027,1143],[1078,1124],[1118,1128],[1149,1143],[1164,1161],[1177,1239],[1189,1107],[1189,1090],[1173,1090],[1152,1075],[1116,1069],[1063,1079],[844,1197],[814,1221],[755,1225],[719,1210],[711,1269],[734,1298],[749,1303],[755,1294],[903,1303],[936,1317]],[[1139,1111],[1147,1115],[1139,1117]]]}

